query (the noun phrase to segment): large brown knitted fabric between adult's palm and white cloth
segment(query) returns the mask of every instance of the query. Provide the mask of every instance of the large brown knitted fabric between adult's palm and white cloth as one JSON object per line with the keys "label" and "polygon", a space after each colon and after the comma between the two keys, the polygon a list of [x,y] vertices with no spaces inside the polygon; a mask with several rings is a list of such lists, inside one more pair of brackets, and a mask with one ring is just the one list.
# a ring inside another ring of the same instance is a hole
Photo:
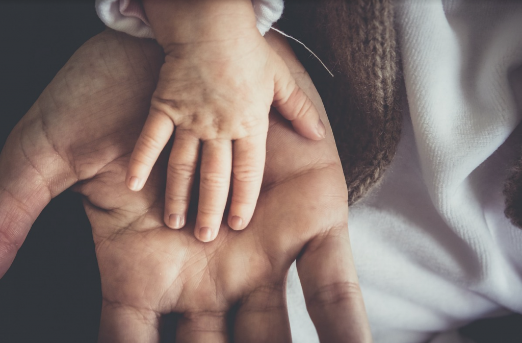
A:
{"label": "large brown knitted fabric between adult's palm and white cloth", "polygon": [[[281,29],[321,95],[354,203],[382,177],[400,137],[403,90],[391,0],[287,0]],[[404,91],[404,90],[403,90]]]}

